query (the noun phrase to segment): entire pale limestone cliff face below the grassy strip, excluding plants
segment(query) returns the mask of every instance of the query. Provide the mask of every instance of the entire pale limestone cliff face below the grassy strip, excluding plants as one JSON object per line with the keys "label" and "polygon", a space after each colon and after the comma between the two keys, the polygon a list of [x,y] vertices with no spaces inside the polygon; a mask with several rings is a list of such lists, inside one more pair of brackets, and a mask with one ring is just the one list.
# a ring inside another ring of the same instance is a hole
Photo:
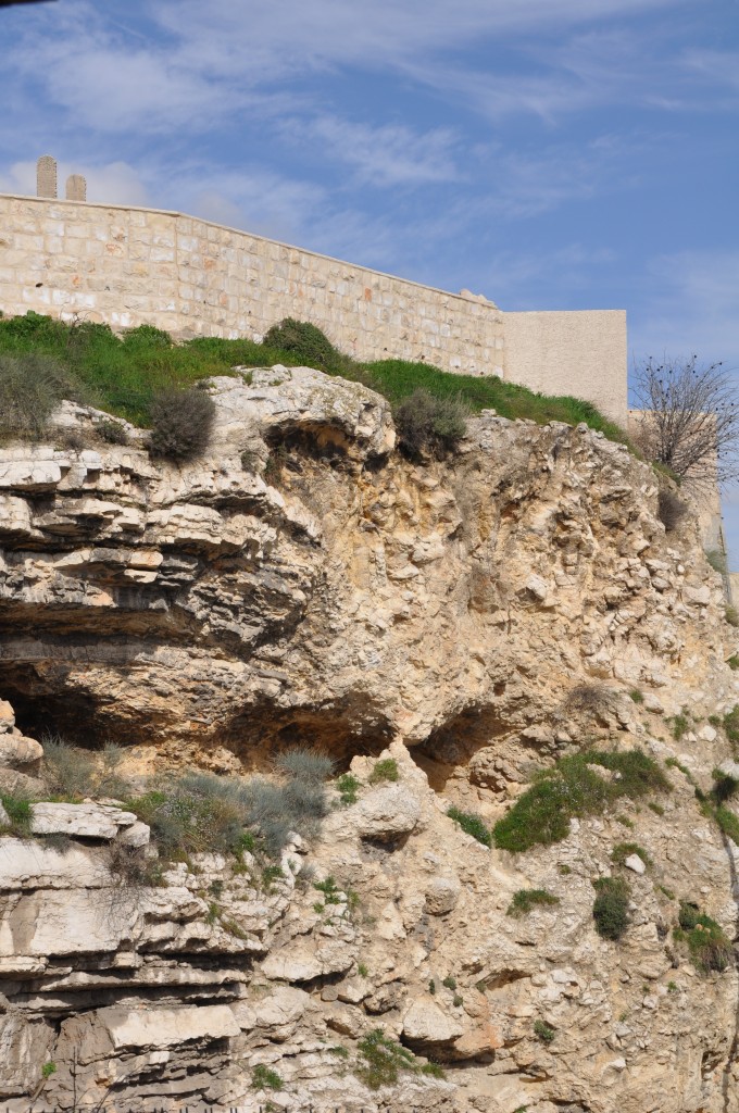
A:
{"label": "entire pale limestone cliff face below the grassy strip, excluding plants", "polygon": [[[233,774],[317,746],[352,760],[358,802],[287,848],[272,892],[210,856],[121,894],[106,847],[138,837],[125,812],[35,818],[71,829],[63,854],[0,838],[0,1095],[22,1103],[52,1060],[41,1102],[66,1107],[256,1109],[267,1065],[288,1110],[738,1109],[736,971],[699,975],[670,932],[677,896],[736,936],[739,851],[686,775],[661,815],[583,819],[525,855],[446,816],[493,821],[536,766],[592,739],[677,756],[710,787],[729,748],[707,718],[738,699],[736,638],[694,521],[666,534],[651,470],[585,427],[486,412],[453,459],[413,465],[356,384],[277,367],[209,390],[196,464],[152,464],[135,431],[0,452],[0,697],[18,716],[0,787],[32,784],[23,732],[50,727],[159,769]],[[381,754],[397,785],[368,784]],[[592,880],[632,838],[654,865],[608,943]],[[316,912],[306,861],[357,907]],[[560,904],[506,916],[521,888]],[[377,1027],[446,1078],[367,1090],[352,1064]]]}

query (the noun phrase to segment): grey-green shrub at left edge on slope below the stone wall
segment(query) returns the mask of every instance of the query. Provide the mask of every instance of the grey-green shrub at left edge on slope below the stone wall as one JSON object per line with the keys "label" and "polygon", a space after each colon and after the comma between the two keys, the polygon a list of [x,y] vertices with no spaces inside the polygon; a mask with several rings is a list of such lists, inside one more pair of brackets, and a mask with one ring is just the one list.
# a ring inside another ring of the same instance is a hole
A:
{"label": "grey-green shrub at left edge on slope below the stone wall", "polygon": [[0,354],[0,442],[40,440],[61,400],[79,397],[73,376],[48,356]]}

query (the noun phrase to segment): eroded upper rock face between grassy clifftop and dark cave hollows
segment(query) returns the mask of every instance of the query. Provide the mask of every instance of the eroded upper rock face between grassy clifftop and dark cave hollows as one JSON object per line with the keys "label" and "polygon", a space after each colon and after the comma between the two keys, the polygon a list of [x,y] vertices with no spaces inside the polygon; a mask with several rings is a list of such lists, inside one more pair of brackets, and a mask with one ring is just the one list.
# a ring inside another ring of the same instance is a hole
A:
{"label": "eroded upper rock face between grassy clifftop and dark cave hollows", "polygon": [[[3,693],[23,722],[224,771],[229,751],[400,735],[502,788],[510,739],[628,730],[630,687],[668,715],[732,702],[719,578],[689,519],[666,535],[621,446],[486,412],[453,461],[414,466],[357,384],[272,368],[210,391],[211,451],[187,466],[136,440],[0,451]],[[612,698],[580,708],[598,681]]]}

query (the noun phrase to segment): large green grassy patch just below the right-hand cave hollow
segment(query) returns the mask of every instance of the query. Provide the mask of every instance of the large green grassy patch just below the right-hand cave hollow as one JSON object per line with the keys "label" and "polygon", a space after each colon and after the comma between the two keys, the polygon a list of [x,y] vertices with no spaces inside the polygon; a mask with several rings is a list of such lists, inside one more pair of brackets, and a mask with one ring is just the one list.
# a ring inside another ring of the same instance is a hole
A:
{"label": "large green grassy patch just below the right-hand cave hollow", "polygon": [[[607,780],[592,766],[602,766],[620,776]],[[633,800],[669,789],[664,774],[642,750],[585,750],[562,758],[552,769],[536,775],[531,788],[495,824],[495,846],[515,853],[533,846],[551,846],[568,837],[574,817],[600,815],[622,797]]]}

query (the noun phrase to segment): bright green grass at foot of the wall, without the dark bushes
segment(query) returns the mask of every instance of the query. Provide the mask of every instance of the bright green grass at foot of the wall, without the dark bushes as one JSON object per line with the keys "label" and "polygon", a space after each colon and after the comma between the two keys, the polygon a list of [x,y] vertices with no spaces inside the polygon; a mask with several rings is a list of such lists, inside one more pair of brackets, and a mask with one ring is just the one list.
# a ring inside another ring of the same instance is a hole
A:
{"label": "bright green grass at foot of the wall, without the dark bushes", "polygon": [[[58,361],[79,380],[82,394],[92,405],[138,425],[147,424],[151,397],[162,387],[188,386],[209,375],[227,375],[236,365],[295,366],[308,362],[299,353],[246,339],[213,337],[173,344],[166,333],[147,325],[130,329],[121,339],[107,325],[67,325],[33,313],[0,319],[0,356],[27,353]],[[335,353],[323,370],[366,383],[393,404],[424,387],[437,397],[461,397],[473,412],[493,408],[504,417],[525,417],[539,424],[587,422],[610,440],[625,441],[623,431],[589,402],[534,394],[496,376],[451,375],[424,363],[402,359],[358,363],[341,353]]]}

